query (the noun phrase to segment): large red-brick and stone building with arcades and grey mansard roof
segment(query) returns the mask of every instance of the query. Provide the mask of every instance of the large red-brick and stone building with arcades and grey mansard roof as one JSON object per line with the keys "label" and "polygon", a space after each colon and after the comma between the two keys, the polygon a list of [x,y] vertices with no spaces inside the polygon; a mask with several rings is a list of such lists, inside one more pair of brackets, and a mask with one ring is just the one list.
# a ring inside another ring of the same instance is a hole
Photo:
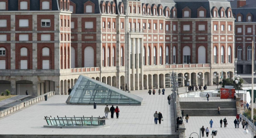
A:
{"label": "large red-brick and stone building with arcades and grey mansard roof", "polygon": [[0,10],[0,91],[67,94],[80,74],[164,88],[172,71],[213,85],[234,72],[226,0],[0,0]]}

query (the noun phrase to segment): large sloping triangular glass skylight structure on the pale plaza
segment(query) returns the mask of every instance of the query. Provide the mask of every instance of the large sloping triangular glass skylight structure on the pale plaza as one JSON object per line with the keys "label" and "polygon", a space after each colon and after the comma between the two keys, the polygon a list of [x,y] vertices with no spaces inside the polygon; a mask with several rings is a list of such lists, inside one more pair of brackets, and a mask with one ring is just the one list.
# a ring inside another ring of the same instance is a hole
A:
{"label": "large sloping triangular glass skylight structure on the pale plaza", "polygon": [[80,75],[66,100],[67,104],[137,104],[142,98]]}

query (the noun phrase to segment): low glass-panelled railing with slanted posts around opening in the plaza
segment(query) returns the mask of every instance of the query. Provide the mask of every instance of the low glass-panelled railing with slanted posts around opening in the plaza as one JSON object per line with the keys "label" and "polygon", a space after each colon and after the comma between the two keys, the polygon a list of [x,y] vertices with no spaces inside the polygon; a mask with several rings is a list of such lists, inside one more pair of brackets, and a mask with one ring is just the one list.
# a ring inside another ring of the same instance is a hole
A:
{"label": "low glass-panelled railing with slanted posts around opening in the plaza", "polygon": [[104,126],[105,117],[47,117],[44,118],[48,126]]}

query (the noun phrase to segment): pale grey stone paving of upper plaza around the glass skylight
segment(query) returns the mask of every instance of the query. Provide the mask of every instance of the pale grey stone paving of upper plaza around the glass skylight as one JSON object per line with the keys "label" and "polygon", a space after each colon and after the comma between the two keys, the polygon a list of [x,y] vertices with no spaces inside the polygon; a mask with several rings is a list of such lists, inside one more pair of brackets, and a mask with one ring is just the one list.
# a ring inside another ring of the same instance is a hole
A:
{"label": "pale grey stone paving of upper plaza around the glass skylight", "polygon": [[[104,115],[105,105],[97,105],[97,109],[93,109],[93,105],[70,105],[65,103],[68,96],[55,95],[48,101],[40,101],[0,118],[0,134],[172,134],[170,113],[173,114],[173,108],[171,111],[170,106],[173,104],[171,102],[169,105],[167,101],[171,92],[166,91],[165,95],[149,95],[147,92],[131,91],[131,94],[143,98],[141,106],[118,105],[120,117],[117,119],[114,115],[114,119],[111,119],[109,113],[110,119],[106,120],[108,128],[44,128],[43,125],[47,124],[44,116]],[[154,123],[155,111],[163,114],[164,121],[161,124]]]}

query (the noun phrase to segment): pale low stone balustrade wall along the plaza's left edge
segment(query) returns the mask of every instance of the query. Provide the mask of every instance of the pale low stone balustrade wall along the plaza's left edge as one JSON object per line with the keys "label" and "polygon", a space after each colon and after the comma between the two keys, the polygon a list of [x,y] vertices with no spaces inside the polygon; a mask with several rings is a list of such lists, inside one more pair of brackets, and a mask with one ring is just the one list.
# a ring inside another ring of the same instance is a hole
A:
{"label": "pale low stone balustrade wall along the plaza's left edge", "polygon": [[26,107],[26,106],[30,105],[30,104],[37,103],[37,102],[45,99],[45,95],[47,95],[47,97],[50,97],[50,96],[54,95],[54,93],[55,92],[48,92],[48,93],[45,93],[45,94],[40,95],[38,97],[32,98],[32,99],[30,99],[28,101],[25,101],[23,103],[16,104],[16,105],[14,105],[12,107],[4,109],[4,110],[0,111],[0,117],[4,117],[5,115],[10,114],[12,112],[15,112],[15,111],[17,111],[17,110],[19,110],[19,109],[21,109],[23,107]]}

